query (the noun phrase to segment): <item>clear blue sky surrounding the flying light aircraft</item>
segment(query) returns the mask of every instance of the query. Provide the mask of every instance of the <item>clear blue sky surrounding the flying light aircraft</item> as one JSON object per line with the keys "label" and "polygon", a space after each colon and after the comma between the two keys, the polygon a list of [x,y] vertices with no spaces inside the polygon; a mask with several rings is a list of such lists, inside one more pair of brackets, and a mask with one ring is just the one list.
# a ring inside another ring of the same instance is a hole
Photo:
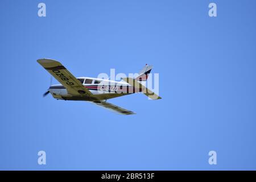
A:
{"label": "clear blue sky surrounding the flying light aircraft", "polygon": [[[0,169],[256,169],[255,7],[253,0],[0,1]],[[36,62],[43,57],[77,77],[154,65],[163,99],[109,100],[137,113],[127,116],[43,98],[50,78]],[[40,150],[46,166],[37,163]]]}

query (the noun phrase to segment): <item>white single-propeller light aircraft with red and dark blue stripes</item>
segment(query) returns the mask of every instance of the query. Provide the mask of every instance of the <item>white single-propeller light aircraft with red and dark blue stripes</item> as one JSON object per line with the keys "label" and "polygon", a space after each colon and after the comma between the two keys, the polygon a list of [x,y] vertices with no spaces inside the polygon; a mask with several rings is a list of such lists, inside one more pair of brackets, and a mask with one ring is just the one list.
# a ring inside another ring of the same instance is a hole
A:
{"label": "white single-propeller light aircraft with red and dark blue stripes", "polygon": [[142,82],[147,81],[152,66],[146,65],[136,78],[122,78],[112,81],[91,77],[73,76],[59,61],[52,59],[37,60],[60,84],[51,85],[43,96],[51,93],[57,100],[89,101],[119,114],[135,114],[133,111],[106,102],[110,98],[126,96],[132,93],[144,93],[152,100],[160,99],[157,94],[147,89]]}

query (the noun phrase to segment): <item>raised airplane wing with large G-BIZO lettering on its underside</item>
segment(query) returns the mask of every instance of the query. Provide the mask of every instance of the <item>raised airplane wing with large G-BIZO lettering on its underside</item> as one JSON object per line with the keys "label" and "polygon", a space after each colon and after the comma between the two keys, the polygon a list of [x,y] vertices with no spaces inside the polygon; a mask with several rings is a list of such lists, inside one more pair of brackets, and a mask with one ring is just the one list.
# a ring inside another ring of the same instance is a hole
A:
{"label": "raised airplane wing with large G-BIZO lettering on its underside", "polygon": [[67,90],[69,94],[91,96],[92,93],[85,88],[60,62],[52,59],[39,59],[42,65],[53,77],[56,78]]}

